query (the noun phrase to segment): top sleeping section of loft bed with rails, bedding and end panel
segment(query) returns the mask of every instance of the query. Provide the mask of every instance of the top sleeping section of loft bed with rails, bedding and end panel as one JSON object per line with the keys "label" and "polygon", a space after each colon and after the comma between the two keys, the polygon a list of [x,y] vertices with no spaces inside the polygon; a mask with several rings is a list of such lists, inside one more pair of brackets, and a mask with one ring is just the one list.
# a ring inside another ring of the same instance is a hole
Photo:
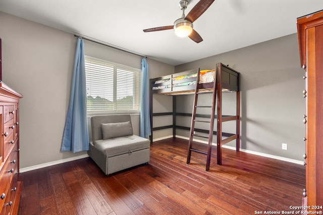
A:
{"label": "top sleeping section of loft bed with rails, bedding and end panel", "polygon": [[[221,66],[222,91],[238,91],[238,73],[223,64]],[[152,94],[164,95],[194,93],[198,71],[195,69],[150,79],[150,90]],[[200,91],[212,91],[216,76],[216,70],[200,71]]]}

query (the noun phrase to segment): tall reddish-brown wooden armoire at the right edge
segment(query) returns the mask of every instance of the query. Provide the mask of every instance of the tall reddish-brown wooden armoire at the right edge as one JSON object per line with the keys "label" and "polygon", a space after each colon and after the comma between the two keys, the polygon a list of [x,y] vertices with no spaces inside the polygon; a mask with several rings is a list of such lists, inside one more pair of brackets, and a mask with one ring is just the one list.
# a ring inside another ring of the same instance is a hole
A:
{"label": "tall reddish-brown wooden armoire at the right edge", "polygon": [[[301,67],[304,69],[306,188],[303,204],[308,210],[323,206],[323,11],[297,19]],[[303,206],[304,206],[303,205]]]}

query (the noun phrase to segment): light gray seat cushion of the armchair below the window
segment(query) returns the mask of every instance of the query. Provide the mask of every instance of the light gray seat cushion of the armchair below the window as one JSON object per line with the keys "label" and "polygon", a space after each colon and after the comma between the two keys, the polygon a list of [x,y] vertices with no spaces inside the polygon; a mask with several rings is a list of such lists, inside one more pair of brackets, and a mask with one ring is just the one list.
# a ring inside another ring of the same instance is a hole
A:
{"label": "light gray seat cushion of the armchair below the window", "polygon": [[95,140],[93,141],[93,145],[107,157],[111,157],[129,153],[130,151],[149,148],[150,141],[137,135],[130,135],[105,140]]}

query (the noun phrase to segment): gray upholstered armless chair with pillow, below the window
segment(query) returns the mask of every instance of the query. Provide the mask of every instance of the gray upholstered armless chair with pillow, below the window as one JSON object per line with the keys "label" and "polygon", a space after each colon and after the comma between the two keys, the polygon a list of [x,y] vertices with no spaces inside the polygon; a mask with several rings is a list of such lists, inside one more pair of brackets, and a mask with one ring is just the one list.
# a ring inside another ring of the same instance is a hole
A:
{"label": "gray upholstered armless chair with pillow, below the window", "polygon": [[130,115],[91,117],[89,156],[105,175],[149,162],[150,141],[133,134]]}

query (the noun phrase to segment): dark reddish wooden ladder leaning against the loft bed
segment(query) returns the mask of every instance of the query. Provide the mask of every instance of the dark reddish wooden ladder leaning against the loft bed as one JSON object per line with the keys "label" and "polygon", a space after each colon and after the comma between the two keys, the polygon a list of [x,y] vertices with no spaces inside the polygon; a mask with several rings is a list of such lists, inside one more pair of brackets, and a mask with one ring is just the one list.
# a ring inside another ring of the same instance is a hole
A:
{"label": "dark reddish wooden ladder leaning against the loft bed", "polygon": [[[196,88],[195,88],[195,92],[194,92],[194,104],[193,104],[193,113],[192,113],[192,121],[191,121],[190,138],[189,138],[189,142],[188,142],[188,151],[187,151],[186,164],[189,164],[190,161],[191,161],[192,151],[207,155],[207,157],[206,157],[206,168],[205,168],[206,171],[208,171],[210,169],[210,160],[211,160],[213,127],[214,127],[214,114],[215,114],[215,111],[216,111],[216,98],[217,98],[217,78],[216,77],[217,77],[217,75],[214,76],[215,80],[214,80],[214,86],[213,86],[213,92],[212,92],[213,96],[212,96],[211,105],[210,106],[198,106],[197,105],[197,98],[198,98],[198,94],[201,93],[201,92],[199,92],[199,89],[200,89],[200,84],[199,84],[199,82],[200,82],[200,71],[198,70],[197,78],[196,78]],[[208,120],[196,120],[196,109],[197,108],[211,108],[210,120],[209,121]],[[210,127],[209,127],[208,136],[204,136],[204,135],[194,133],[195,122],[209,123]],[[206,152],[192,148],[193,136],[198,136],[198,137],[202,137],[202,138],[208,138],[208,146],[207,146],[207,151]]]}

